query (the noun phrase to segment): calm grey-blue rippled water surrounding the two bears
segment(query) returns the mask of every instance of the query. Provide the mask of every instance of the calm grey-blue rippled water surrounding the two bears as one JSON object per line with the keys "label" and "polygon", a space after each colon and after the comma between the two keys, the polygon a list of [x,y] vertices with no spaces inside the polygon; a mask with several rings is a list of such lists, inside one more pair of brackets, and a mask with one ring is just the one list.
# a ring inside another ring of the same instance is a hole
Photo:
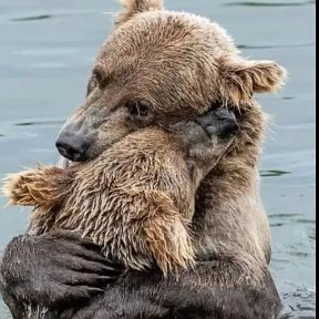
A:
{"label": "calm grey-blue rippled water surrounding the two bears", "polygon": [[[315,1],[174,1],[209,17],[245,56],[274,59],[290,74],[276,95],[260,165],[272,229],[272,271],[286,318],[315,318]],[[0,0],[0,175],[55,163],[55,136],[81,103],[116,1]],[[0,198],[0,206],[4,205]],[[0,249],[25,229],[28,210],[0,210]],[[0,305],[0,318],[9,318]]]}

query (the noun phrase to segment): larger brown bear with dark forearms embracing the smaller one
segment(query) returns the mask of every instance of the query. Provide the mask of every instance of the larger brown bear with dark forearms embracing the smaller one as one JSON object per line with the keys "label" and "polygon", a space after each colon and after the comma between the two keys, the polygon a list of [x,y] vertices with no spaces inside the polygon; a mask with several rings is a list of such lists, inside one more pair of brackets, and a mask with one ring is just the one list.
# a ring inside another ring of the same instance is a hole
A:
{"label": "larger brown bear with dark forearms embracing the smaller one", "polygon": [[276,318],[280,299],[268,268],[257,173],[266,119],[254,93],[278,89],[285,72],[271,61],[240,58],[226,32],[204,18],[165,11],[160,0],[124,6],[95,61],[86,100],[56,146],[71,161],[90,161],[130,132],[165,123],[167,105],[185,119],[183,110],[192,107],[233,110],[240,130],[196,193],[196,266],[181,271],[178,281],[155,268],[131,270],[90,299],[105,284],[103,269],[112,277],[92,245],[69,233],[24,235],[4,251],[2,294],[12,307],[27,297],[49,309],[79,309],[72,317],[49,311],[53,318]]}

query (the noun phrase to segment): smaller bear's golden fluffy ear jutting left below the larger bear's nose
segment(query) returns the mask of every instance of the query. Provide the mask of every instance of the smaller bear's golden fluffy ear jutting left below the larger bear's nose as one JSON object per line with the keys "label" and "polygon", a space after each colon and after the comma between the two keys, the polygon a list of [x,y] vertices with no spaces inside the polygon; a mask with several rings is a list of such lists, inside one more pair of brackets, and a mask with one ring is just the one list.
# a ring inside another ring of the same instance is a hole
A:
{"label": "smaller bear's golden fluffy ear jutting left below the larger bear's nose", "polygon": [[52,208],[64,199],[71,182],[70,171],[39,166],[8,175],[3,193],[9,204]]}

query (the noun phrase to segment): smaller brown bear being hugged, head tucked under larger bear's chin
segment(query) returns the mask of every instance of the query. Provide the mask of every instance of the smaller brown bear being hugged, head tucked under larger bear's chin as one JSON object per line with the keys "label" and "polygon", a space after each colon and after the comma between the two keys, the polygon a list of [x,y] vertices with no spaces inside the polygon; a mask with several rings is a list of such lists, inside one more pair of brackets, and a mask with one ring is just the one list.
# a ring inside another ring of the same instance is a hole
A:
{"label": "smaller brown bear being hugged, head tucked under larger bear's chin", "polygon": [[29,234],[80,231],[124,267],[156,263],[164,276],[177,274],[194,263],[188,224],[197,187],[237,128],[225,109],[168,130],[142,128],[91,162],[13,174],[4,194],[12,204],[34,206]]}

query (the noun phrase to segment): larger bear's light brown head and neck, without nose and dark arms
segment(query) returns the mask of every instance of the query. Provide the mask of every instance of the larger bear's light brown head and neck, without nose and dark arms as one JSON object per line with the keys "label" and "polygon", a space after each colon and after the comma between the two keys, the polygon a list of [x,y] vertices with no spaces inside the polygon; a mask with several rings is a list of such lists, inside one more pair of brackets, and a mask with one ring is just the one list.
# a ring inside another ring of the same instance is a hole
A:
{"label": "larger bear's light brown head and neck, without nose and dark arms", "polygon": [[[269,226],[257,183],[266,115],[254,93],[279,89],[285,70],[272,61],[244,60],[225,30],[207,19],[161,10],[157,0],[124,3],[94,63],[84,105],[61,135],[76,128],[90,140],[88,157],[94,158],[152,123],[165,127],[220,104],[233,110],[240,132],[200,185],[195,246],[198,258],[225,251],[245,265],[269,261]],[[134,103],[147,107],[147,116],[132,117]]]}

